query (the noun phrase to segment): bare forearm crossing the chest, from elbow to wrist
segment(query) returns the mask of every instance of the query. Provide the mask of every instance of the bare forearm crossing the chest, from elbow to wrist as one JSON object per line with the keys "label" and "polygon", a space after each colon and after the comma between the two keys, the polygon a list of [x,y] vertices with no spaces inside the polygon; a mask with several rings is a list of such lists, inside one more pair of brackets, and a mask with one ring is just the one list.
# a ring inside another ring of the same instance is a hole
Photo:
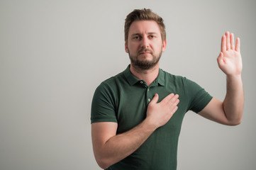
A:
{"label": "bare forearm crossing the chest, from elbow to wrist", "polygon": [[95,156],[99,166],[106,169],[108,166],[128,157],[143,145],[155,129],[145,119],[135,128],[122,134],[114,135],[97,149],[98,152]]}

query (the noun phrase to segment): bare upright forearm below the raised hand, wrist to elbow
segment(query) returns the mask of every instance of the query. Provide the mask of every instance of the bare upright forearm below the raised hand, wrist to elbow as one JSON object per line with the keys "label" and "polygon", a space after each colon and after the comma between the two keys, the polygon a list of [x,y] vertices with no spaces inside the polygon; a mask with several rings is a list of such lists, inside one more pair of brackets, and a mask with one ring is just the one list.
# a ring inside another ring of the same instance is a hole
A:
{"label": "bare upright forearm below the raised hand, wrist to elbow", "polygon": [[244,91],[241,75],[227,76],[227,92],[223,101],[223,110],[231,124],[237,125],[242,120]]}

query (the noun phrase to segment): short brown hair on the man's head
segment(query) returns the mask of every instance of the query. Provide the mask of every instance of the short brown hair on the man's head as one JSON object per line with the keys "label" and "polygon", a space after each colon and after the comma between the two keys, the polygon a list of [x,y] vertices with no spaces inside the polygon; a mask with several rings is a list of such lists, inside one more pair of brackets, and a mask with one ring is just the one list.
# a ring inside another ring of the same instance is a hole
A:
{"label": "short brown hair on the man's head", "polygon": [[162,41],[166,39],[166,32],[165,32],[165,23],[164,20],[158,16],[156,13],[153,13],[151,9],[135,9],[131,13],[126,16],[126,23],[124,26],[124,33],[125,33],[125,41],[128,42],[128,32],[130,29],[130,25],[134,21],[155,21],[157,22],[160,32]]}

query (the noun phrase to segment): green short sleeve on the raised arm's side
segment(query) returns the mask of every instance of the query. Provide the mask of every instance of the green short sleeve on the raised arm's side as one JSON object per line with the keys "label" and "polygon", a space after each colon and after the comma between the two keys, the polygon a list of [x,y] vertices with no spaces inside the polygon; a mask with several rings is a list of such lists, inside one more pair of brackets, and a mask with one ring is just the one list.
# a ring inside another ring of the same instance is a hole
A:
{"label": "green short sleeve on the raised arm's side", "polygon": [[196,84],[194,81],[186,79],[186,89],[189,98],[189,107],[188,110],[199,113],[203,110],[206,105],[213,98],[208,92],[205,91],[199,84]]}

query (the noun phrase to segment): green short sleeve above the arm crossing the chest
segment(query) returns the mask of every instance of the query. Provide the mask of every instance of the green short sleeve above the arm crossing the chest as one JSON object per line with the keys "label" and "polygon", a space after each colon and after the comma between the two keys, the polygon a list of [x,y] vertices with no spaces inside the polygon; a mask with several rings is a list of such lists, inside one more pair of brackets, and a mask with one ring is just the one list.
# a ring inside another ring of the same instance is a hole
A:
{"label": "green short sleeve above the arm crossing the chest", "polygon": [[114,101],[114,94],[110,86],[104,82],[101,83],[95,90],[91,102],[91,123],[117,123]]}

